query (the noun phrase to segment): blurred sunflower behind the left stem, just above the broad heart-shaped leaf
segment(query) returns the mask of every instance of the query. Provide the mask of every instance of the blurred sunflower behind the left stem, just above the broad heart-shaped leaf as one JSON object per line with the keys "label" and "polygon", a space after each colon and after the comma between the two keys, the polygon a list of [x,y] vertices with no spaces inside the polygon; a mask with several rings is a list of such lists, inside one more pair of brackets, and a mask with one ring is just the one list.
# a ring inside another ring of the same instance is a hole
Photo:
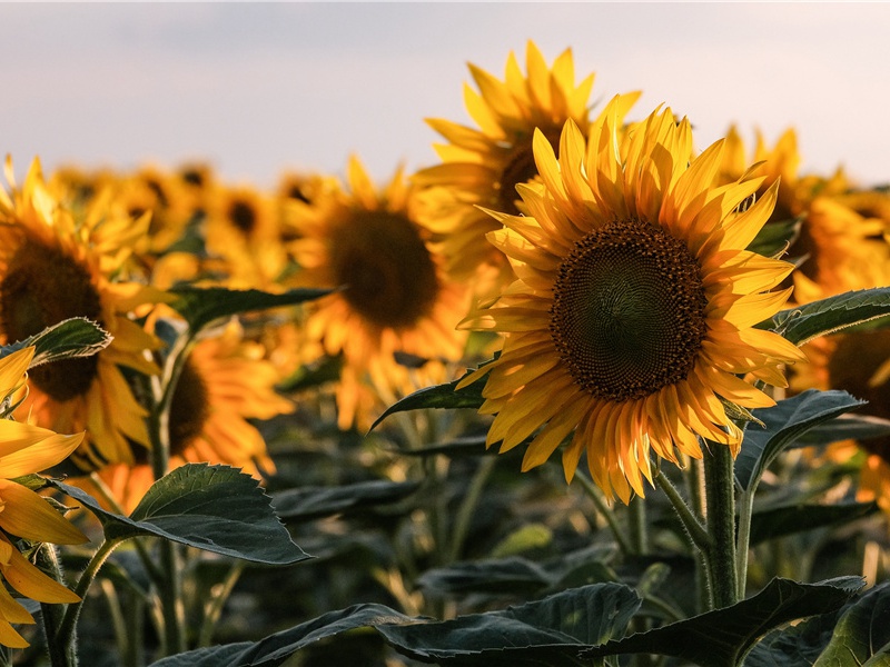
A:
{"label": "blurred sunflower behind the left stem, just above the broad heart-shaped leaf", "polygon": [[[265,348],[244,340],[233,321],[189,352],[170,404],[170,469],[186,462],[225,464],[255,477],[274,472],[266,441],[249,419],[271,419],[294,405],[275,391],[281,379]],[[99,477],[131,511],[154,484],[151,466],[108,466]]]}

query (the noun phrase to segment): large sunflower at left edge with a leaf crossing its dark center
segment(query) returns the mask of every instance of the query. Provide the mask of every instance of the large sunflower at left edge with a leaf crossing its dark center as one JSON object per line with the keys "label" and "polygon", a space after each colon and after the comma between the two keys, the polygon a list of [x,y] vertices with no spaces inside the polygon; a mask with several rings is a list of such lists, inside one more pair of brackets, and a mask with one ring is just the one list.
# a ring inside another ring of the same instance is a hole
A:
{"label": "large sunflower at left edge with a leaf crossing its dark center", "polygon": [[86,317],[111,335],[99,354],[38,367],[26,401],[37,424],[62,432],[86,430],[72,457],[85,467],[131,461],[130,440],[147,444],[145,409],[120,367],[157,372],[156,348],[129,313],[162,299],[134,281],[118,280],[148,217],[107,217],[98,197],[82,218],[58,205],[34,161],[18,190],[0,190],[0,341],[12,342],[71,317]]}

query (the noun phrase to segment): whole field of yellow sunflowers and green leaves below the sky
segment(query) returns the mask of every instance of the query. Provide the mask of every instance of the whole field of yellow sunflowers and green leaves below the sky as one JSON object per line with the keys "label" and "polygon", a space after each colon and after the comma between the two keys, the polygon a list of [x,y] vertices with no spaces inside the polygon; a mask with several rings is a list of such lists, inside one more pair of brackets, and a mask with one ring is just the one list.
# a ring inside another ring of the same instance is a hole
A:
{"label": "whole field of yellow sunflowers and green leaves below the sky", "polygon": [[385,182],[7,158],[0,665],[890,666],[890,188],[583,74]]}

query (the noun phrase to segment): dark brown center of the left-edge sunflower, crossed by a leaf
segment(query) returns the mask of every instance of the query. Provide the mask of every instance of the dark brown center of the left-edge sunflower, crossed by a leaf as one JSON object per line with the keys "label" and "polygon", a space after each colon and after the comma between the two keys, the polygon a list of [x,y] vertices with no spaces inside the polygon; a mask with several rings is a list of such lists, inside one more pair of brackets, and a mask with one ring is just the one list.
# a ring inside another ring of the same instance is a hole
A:
{"label": "dark brown center of the left-edge sunflower, crossed by a leaf", "polygon": [[[0,280],[0,328],[23,340],[71,317],[102,326],[102,306],[89,271],[59,248],[26,240]],[[58,401],[85,395],[98,375],[98,357],[63,359],[28,371],[31,382]]]}

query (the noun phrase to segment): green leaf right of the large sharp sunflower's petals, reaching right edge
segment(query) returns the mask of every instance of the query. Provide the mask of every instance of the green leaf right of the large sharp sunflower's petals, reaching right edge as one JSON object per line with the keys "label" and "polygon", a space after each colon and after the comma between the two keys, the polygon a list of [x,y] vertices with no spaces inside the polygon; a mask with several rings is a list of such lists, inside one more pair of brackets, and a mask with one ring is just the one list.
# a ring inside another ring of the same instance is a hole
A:
{"label": "green leaf right of the large sharp sunflower's petals, reaching right edge", "polygon": [[[779,331],[795,345],[890,315],[890,287],[849,291],[789,308],[759,325]],[[890,325],[890,318],[880,322]]]}

